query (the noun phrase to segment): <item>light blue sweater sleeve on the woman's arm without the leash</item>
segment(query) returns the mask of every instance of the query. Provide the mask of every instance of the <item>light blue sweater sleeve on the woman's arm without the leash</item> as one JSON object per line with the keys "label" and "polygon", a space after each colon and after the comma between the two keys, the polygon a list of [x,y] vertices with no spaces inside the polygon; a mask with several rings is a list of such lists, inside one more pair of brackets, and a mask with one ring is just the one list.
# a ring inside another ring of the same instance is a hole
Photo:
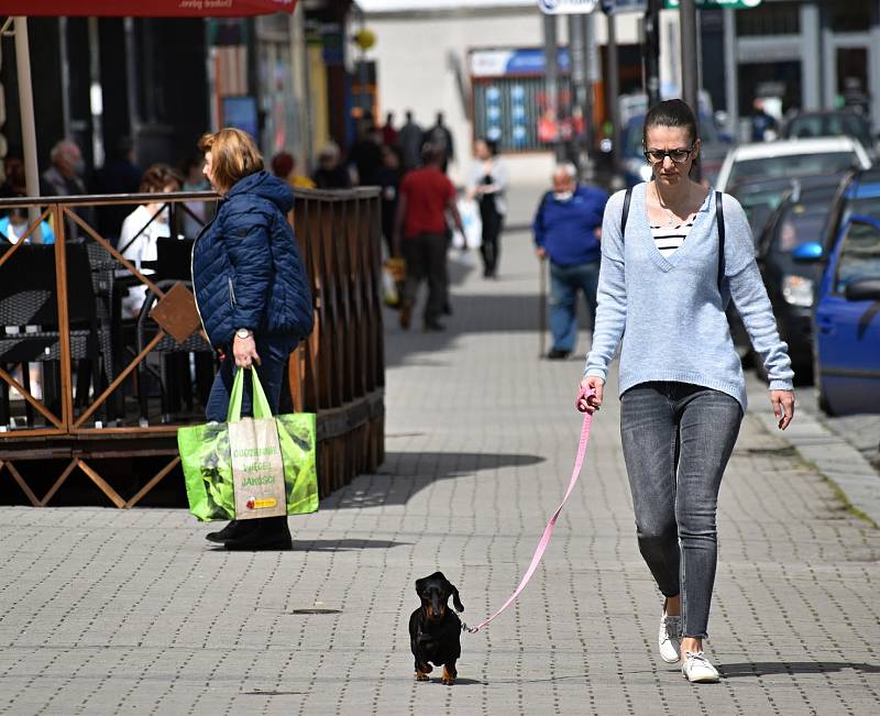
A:
{"label": "light blue sweater sleeve on the woman's arm without the leash", "polygon": [[725,195],[725,277],[737,310],[751,339],[751,345],[763,359],[771,390],[791,390],[789,346],[779,338],[773,308],[767,297],[761,273],[755,262],[755,247],[746,213],[739,202]]}

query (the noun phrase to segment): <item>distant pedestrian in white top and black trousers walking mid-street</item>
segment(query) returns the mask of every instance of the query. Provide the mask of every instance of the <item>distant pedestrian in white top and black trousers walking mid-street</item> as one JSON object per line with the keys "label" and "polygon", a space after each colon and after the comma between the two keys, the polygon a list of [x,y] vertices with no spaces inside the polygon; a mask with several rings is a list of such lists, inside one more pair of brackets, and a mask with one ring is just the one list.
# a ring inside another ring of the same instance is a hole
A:
{"label": "distant pedestrian in white top and black trousers walking mid-street", "polygon": [[474,142],[474,155],[476,161],[468,179],[468,197],[480,205],[483,276],[497,278],[501,233],[507,212],[507,167],[498,158],[498,143],[492,140],[480,139]]}

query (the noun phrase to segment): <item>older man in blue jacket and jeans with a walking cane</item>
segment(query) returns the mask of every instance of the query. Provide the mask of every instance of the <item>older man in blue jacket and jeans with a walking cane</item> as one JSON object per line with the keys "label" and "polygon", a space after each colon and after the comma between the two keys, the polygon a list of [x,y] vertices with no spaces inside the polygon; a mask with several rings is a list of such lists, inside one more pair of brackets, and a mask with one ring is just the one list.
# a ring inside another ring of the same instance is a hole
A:
{"label": "older man in blue jacket and jeans with a walking cane", "polygon": [[578,170],[561,164],[553,173],[553,190],[538,207],[532,225],[540,260],[550,258],[550,331],[553,345],[547,357],[569,357],[578,341],[578,291],[582,290],[596,317],[602,216],[608,195],[578,186]]}

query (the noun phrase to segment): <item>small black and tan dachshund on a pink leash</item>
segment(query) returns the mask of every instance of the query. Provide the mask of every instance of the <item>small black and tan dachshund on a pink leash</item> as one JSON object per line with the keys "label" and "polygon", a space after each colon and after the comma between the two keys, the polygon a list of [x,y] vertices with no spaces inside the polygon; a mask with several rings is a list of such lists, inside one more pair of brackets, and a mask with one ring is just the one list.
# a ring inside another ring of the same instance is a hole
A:
{"label": "small black and tan dachshund on a pink leash", "polygon": [[409,617],[409,642],[416,658],[416,681],[428,681],[431,664],[443,667],[442,682],[455,683],[455,661],[461,657],[461,619],[447,605],[449,597],[455,609],[464,612],[459,591],[442,572],[416,580],[416,594],[421,606]]}

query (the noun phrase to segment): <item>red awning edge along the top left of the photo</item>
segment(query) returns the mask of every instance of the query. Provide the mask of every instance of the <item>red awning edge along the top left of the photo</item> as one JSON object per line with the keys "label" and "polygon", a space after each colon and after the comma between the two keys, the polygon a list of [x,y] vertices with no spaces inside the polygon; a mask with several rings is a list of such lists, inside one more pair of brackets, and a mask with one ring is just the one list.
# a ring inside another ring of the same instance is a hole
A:
{"label": "red awning edge along the top left of the photo", "polygon": [[244,18],[293,12],[297,0],[7,0],[4,15],[31,18]]}

